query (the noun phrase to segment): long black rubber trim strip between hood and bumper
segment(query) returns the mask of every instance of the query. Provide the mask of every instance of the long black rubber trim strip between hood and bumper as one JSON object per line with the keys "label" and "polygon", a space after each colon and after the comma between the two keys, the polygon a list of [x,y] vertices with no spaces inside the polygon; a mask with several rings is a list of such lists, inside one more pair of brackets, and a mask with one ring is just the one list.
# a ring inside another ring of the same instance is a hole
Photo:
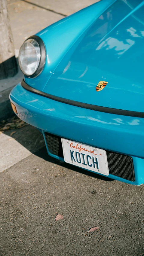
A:
{"label": "long black rubber trim strip between hood and bumper", "polygon": [[64,99],[64,98],[61,98],[61,97],[58,97],[58,96],[54,96],[54,95],[51,95],[51,94],[48,94],[48,93],[44,93],[44,92],[41,92],[39,90],[36,90],[36,89],[32,88],[31,86],[26,84],[24,80],[21,82],[21,85],[24,89],[26,89],[26,90],[28,90],[32,93],[36,93],[38,95],[47,97],[49,99],[53,99],[53,100],[63,102],[63,103],[69,104],[69,105],[73,105],[73,106],[76,106],[76,107],[87,108],[87,109],[100,111],[100,112],[105,112],[105,113],[109,113],[109,114],[117,114],[117,115],[130,116],[130,117],[144,117],[143,112],[136,112],[136,111],[130,111],[130,110],[117,109],[117,108],[101,107],[101,106],[97,106],[97,105],[91,105],[91,104],[87,104],[87,103],[74,101],[74,100],[71,100],[71,99]]}

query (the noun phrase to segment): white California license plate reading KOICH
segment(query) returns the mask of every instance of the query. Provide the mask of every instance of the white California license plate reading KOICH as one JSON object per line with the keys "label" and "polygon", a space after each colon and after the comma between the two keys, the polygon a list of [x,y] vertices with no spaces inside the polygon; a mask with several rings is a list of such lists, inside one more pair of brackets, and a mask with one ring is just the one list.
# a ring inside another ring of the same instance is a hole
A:
{"label": "white California license plate reading KOICH", "polygon": [[71,163],[93,172],[109,175],[105,150],[63,138],[61,141],[63,146],[63,156],[66,163]]}

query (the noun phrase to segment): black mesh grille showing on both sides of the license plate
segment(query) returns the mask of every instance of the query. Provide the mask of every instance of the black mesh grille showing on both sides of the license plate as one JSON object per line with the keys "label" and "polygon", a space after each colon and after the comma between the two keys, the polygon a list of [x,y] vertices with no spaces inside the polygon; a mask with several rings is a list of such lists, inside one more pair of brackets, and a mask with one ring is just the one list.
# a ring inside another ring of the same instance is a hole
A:
{"label": "black mesh grille showing on both sides of the license plate", "polygon": [[[51,154],[63,157],[61,137],[45,133],[48,150]],[[134,181],[133,160],[130,156],[106,150],[109,173],[123,179]]]}

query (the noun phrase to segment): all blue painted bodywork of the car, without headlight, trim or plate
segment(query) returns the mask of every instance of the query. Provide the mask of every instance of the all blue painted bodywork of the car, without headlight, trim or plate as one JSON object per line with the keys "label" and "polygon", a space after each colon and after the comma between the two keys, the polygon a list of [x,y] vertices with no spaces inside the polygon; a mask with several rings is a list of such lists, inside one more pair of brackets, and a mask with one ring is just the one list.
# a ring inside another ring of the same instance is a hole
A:
{"label": "all blue painted bodywork of the car, without headlight, trim or plate", "polygon": [[[37,35],[46,47],[46,63],[37,77],[25,76],[26,83],[78,102],[144,111],[143,13],[144,1],[103,0],[43,29]],[[99,81],[108,84],[97,92]],[[143,118],[57,102],[29,92],[21,84],[11,91],[10,99],[18,117],[42,133],[130,155],[135,181],[108,177],[135,185],[144,183]]]}

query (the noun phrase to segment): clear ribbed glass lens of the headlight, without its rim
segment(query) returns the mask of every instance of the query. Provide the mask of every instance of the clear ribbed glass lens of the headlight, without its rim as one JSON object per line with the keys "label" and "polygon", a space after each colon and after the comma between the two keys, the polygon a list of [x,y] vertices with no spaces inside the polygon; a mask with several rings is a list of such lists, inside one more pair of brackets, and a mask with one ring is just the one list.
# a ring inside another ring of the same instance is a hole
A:
{"label": "clear ribbed glass lens of the headlight, without its rim", "polygon": [[26,40],[20,48],[19,65],[22,72],[27,75],[33,75],[38,69],[41,59],[41,50],[35,39]]}

